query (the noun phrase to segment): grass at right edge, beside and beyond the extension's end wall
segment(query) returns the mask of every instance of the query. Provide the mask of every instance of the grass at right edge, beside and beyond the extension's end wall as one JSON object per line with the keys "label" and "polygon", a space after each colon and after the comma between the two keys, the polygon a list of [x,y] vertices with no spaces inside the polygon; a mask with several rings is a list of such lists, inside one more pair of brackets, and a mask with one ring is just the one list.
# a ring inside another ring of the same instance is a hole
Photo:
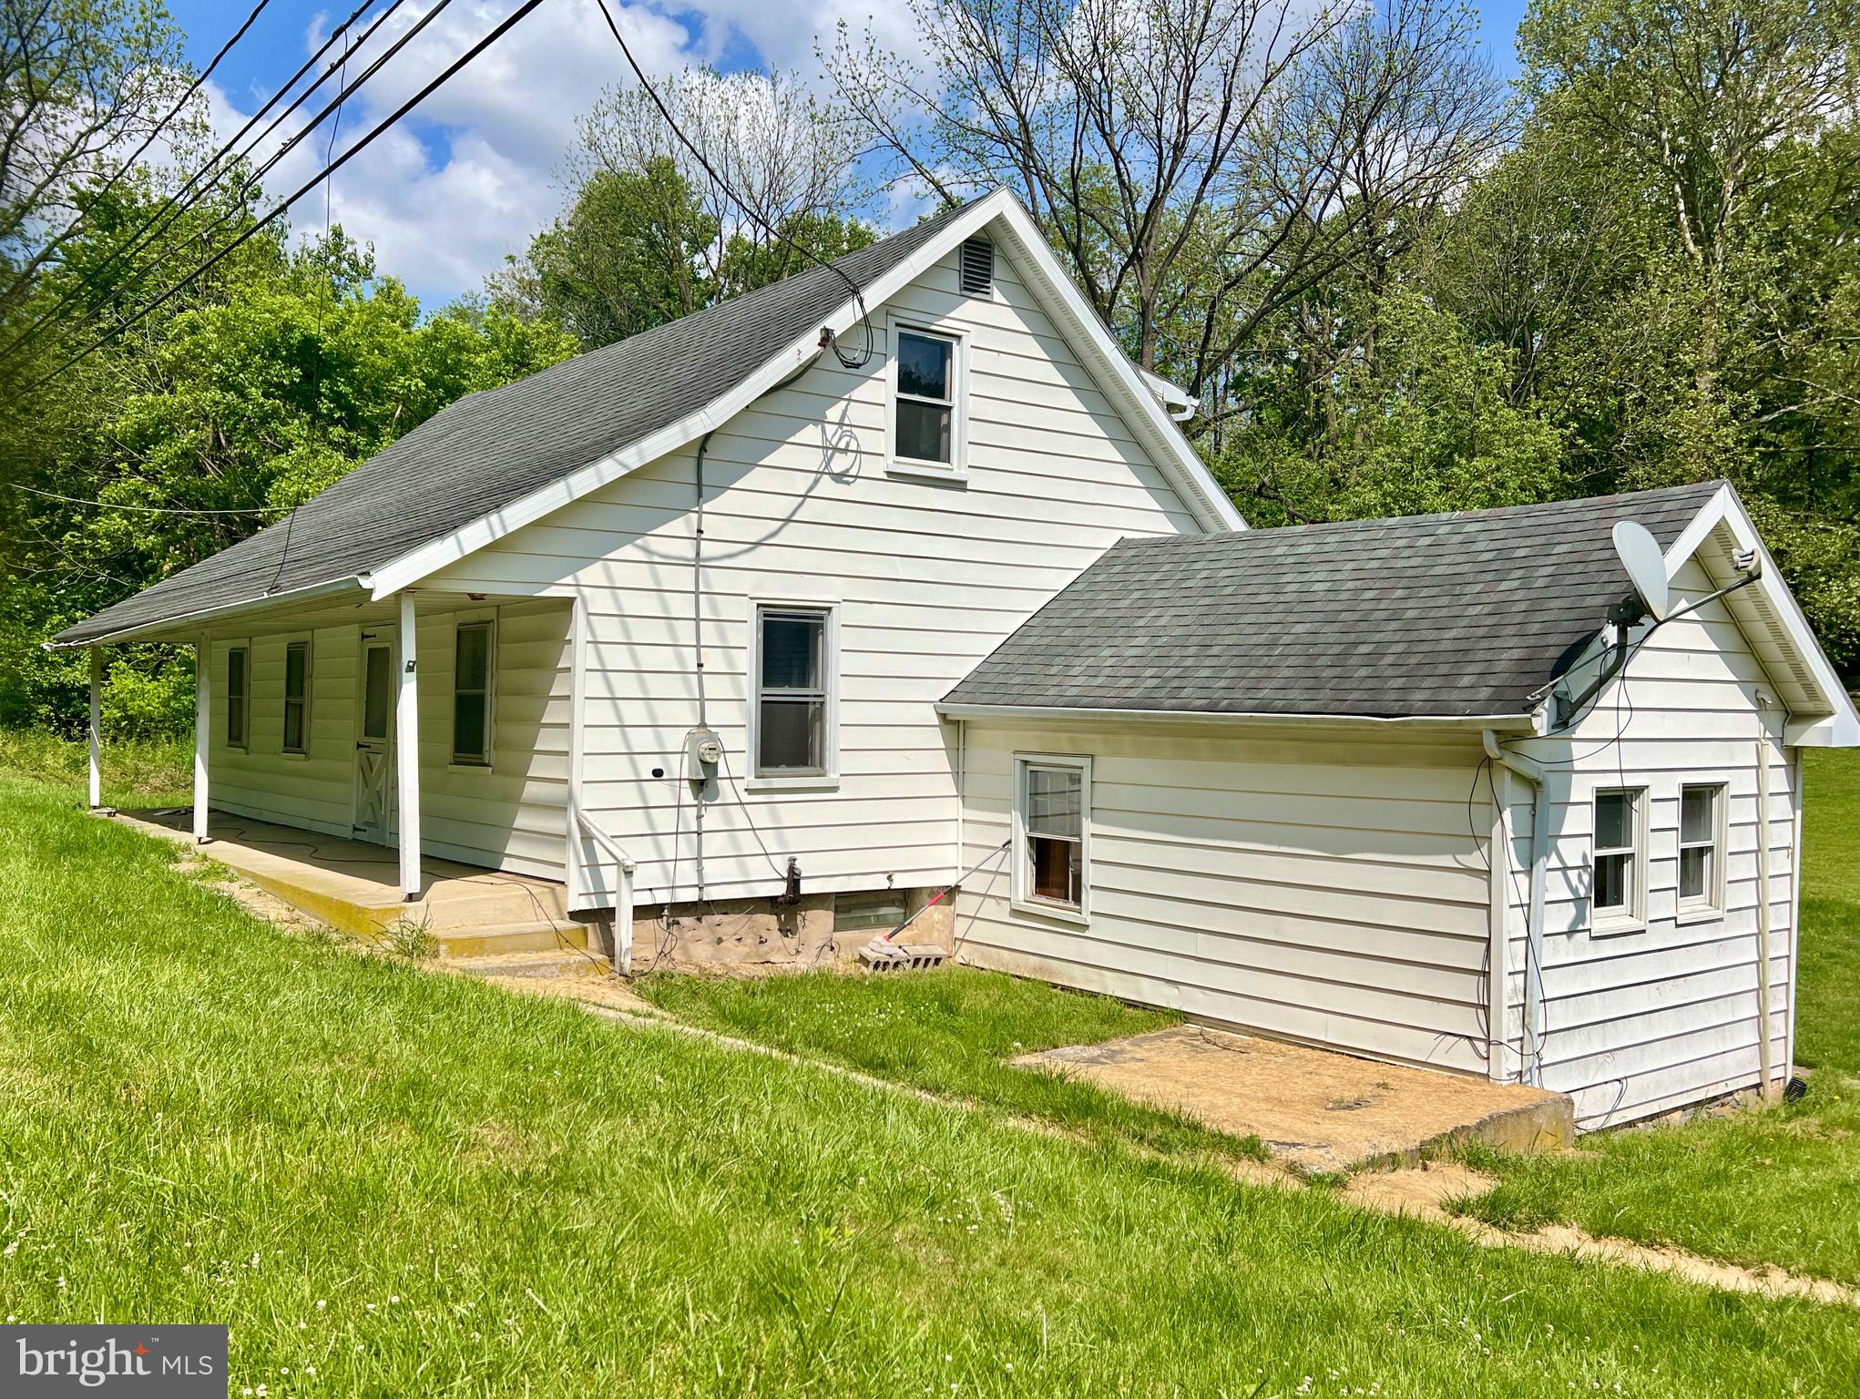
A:
{"label": "grass at right edge, beside and beyond the extension's end wall", "polygon": [[1460,1209],[1549,1220],[1734,1263],[1860,1280],[1860,753],[1804,753],[1800,1103],[1585,1137],[1557,1157],[1479,1155],[1501,1183]]}

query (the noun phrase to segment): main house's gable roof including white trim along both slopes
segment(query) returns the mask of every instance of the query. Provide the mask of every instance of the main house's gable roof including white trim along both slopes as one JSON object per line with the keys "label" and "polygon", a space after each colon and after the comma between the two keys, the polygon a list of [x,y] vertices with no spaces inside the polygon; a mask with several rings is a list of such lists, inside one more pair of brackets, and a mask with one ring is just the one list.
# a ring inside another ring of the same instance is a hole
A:
{"label": "main house's gable roof including white trim along both slopes", "polygon": [[[982,227],[1006,233],[1073,313],[1075,329],[1096,342],[1101,357],[1107,348],[1116,357],[1105,363],[1125,389],[1125,409],[1133,419],[1153,419],[1159,454],[1174,465],[1189,508],[1209,528],[1244,528],[1162,404],[1058,270],[1032,220],[997,190],[835,259],[837,272],[815,266],[500,389],[467,394],[292,517],[67,627],[52,644],[145,634],[292,593],[366,588],[385,597],[722,426],[805,368],[820,353],[822,327],[843,333],[857,322],[846,279],[876,309]],[[1051,285],[1055,273],[1060,286]]]}

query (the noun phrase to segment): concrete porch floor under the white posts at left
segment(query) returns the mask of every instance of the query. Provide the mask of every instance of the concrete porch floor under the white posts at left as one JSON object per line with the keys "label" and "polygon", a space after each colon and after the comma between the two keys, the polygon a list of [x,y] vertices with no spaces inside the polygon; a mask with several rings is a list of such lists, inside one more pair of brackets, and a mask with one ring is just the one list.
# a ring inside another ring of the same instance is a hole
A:
{"label": "concrete porch floor under the white posts at left", "polygon": [[[151,835],[193,845],[188,807],[123,811],[115,819]],[[221,811],[212,813],[206,833],[210,839],[201,846],[203,856],[292,908],[361,938],[374,938],[398,921],[420,925],[439,939],[538,925],[560,925],[571,939],[586,938],[584,928],[569,919],[565,889],[554,880],[426,858],[420,859],[420,897],[407,900],[400,893],[400,863],[391,846]],[[551,934],[541,945],[560,941]]]}

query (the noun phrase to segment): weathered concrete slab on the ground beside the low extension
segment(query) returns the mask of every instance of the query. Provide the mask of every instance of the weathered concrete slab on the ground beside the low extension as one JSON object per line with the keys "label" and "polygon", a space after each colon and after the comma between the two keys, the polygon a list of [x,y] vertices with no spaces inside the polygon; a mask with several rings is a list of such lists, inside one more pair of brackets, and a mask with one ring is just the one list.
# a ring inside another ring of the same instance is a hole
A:
{"label": "weathered concrete slab on the ground beside the low extension", "polygon": [[1566,1094],[1203,1025],[1066,1046],[1014,1062],[1090,1079],[1237,1137],[1256,1135],[1308,1172],[1408,1165],[1449,1142],[1549,1152],[1575,1139]]}

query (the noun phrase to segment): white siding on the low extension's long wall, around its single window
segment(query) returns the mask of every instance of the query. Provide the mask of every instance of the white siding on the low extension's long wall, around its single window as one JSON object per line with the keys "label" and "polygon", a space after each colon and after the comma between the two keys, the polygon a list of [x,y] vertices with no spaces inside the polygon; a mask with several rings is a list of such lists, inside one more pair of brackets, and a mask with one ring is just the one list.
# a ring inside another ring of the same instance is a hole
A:
{"label": "white siding on the low extension's long wall, around its single window", "polygon": [[1090,921],[956,908],[980,966],[1369,1055],[1484,1072],[1490,806],[1475,740],[965,724],[963,863],[1008,835],[1014,753],[1092,757]]}

